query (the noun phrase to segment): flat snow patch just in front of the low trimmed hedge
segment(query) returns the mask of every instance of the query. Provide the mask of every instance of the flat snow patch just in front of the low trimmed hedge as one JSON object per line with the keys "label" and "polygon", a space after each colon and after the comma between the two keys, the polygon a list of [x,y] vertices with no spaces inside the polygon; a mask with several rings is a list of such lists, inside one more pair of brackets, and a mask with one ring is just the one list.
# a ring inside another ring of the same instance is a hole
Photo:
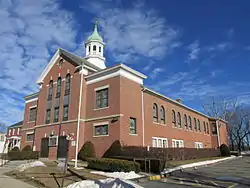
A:
{"label": "flat snow patch just in front of the low trimmed hedge", "polygon": [[91,171],[92,174],[99,174],[110,178],[120,178],[123,180],[130,180],[135,178],[143,177],[142,175],[136,174],[134,171],[131,172],[102,172],[102,171]]}

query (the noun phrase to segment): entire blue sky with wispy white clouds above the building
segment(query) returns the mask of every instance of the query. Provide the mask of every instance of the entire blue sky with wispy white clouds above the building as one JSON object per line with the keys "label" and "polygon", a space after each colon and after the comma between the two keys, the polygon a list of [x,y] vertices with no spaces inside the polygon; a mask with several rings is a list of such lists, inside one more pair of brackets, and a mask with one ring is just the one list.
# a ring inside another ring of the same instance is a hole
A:
{"label": "entire blue sky with wispy white clouds above the building", "polygon": [[84,56],[98,18],[106,66],[202,110],[212,98],[249,104],[250,1],[0,0],[0,122],[23,119],[23,97],[61,47]]}

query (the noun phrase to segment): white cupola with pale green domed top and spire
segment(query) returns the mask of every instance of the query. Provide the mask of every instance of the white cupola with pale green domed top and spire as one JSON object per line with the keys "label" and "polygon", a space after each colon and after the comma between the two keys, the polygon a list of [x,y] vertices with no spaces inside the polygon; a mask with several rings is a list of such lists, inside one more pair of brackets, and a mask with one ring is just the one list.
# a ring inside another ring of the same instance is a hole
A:
{"label": "white cupola with pale green domed top and spire", "polygon": [[102,37],[98,33],[97,25],[98,23],[96,21],[94,31],[85,43],[85,59],[88,62],[94,64],[95,66],[101,69],[105,69],[105,57],[103,57],[105,43],[103,42]]}

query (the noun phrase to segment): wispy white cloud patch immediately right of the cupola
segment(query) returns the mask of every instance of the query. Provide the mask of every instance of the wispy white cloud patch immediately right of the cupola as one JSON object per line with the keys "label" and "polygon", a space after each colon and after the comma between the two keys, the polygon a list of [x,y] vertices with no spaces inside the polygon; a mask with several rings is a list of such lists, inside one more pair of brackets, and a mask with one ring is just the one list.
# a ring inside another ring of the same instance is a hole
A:
{"label": "wispy white cloud patch immediately right of the cupola", "polygon": [[84,8],[100,18],[106,49],[116,61],[133,63],[138,57],[158,60],[181,45],[177,41],[179,30],[143,3],[121,9],[113,3],[91,1]]}

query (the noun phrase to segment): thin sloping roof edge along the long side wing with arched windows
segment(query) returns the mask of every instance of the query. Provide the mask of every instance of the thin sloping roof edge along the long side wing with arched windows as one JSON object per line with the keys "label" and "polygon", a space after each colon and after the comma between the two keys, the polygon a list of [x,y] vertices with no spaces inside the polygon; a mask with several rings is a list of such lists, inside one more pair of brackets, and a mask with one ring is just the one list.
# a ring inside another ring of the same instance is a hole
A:
{"label": "thin sloping roof edge along the long side wing with arched windows", "polygon": [[158,92],[156,92],[156,91],[153,91],[153,90],[151,90],[151,89],[149,89],[149,88],[147,88],[147,87],[143,87],[143,89],[144,89],[144,91],[148,91],[148,92],[150,92],[150,93],[152,93],[152,94],[154,94],[154,95],[156,95],[156,96],[158,96],[158,97],[161,97],[161,98],[163,98],[163,99],[166,99],[166,100],[168,100],[168,101],[170,101],[170,102],[172,102],[172,103],[174,103],[174,104],[176,104],[176,105],[178,105],[178,106],[181,106],[181,107],[183,107],[183,108],[186,108],[186,109],[188,109],[188,110],[190,110],[190,111],[192,111],[192,112],[194,112],[194,113],[196,113],[196,114],[199,114],[199,115],[201,115],[201,116],[203,116],[203,117],[206,117],[206,118],[208,118],[208,119],[210,119],[210,120],[220,120],[220,121],[223,121],[223,122],[227,123],[225,120],[210,117],[210,116],[208,116],[208,115],[206,115],[206,114],[204,114],[204,113],[201,113],[201,112],[199,112],[199,111],[197,111],[197,110],[195,110],[195,109],[193,109],[193,108],[190,108],[190,107],[188,107],[188,106],[186,106],[186,105],[184,105],[184,104],[182,104],[182,103],[180,103],[180,102],[178,102],[178,101],[176,101],[176,100],[173,100],[173,99],[171,99],[171,98],[169,98],[169,97],[167,97],[167,96],[165,96],[165,95],[162,95],[162,94],[160,94],[160,93],[158,93]]}

